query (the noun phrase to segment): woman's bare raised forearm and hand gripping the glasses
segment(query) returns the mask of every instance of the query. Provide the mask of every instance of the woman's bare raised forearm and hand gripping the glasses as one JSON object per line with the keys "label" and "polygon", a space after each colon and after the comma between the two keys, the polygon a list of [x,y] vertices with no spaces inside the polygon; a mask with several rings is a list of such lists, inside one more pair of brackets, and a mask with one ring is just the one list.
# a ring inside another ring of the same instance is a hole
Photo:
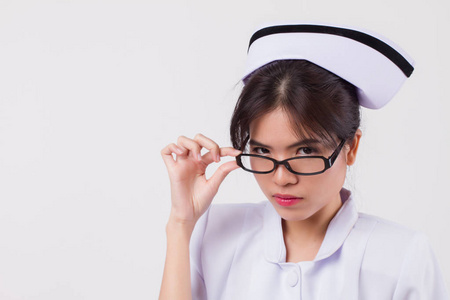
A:
{"label": "woman's bare raised forearm and hand gripping the glasses", "polygon": [[[201,156],[202,148],[209,152]],[[177,144],[170,144],[161,151],[169,172],[172,208],[166,227],[167,252],[160,300],[191,299],[189,242],[192,231],[222,181],[238,166],[235,161],[224,163],[209,179],[205,171],[211,163],[219,162],[220,157],[239,153],[233,148],[219,148],[202,135],[193,140],[180,137]]]}

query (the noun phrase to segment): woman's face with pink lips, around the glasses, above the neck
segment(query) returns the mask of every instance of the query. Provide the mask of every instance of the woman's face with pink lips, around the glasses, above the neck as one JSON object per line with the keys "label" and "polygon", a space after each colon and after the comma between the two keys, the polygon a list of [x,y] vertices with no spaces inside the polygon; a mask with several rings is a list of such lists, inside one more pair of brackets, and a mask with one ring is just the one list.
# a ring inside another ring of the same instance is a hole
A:
{"label": "woman's face with pink lips, around the glasses, above the neck", "polygon": [[[251,123],[249,153],[281,161],[308,155],[328,158],[334,151],[312,136],[308,140],[307,144],[303,143],[292,130],[286,113],[277,109]],[[345,145],[333,166],[322,174],[295,175],[278,165],[272,173],[255,174],[255,178],[284,220],[330,218],[341,206],[339,191],[344,184],[347,163],[352,163],[347,159],[349,151],[349,146]]]}

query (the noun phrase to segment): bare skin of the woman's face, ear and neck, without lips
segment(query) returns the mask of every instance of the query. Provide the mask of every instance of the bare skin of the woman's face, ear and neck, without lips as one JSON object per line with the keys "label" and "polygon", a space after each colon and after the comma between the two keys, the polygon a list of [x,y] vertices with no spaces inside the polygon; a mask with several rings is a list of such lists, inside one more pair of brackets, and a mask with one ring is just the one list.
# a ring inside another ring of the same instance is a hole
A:
{"label": "bare skin of the woman's face, ear and neck, without lips", "polygon": [[[276,160],[295,156],[320,155],[329,157],[334,149],[320,144],[311,147],[298,144],[299,138],[291,129],[289,117],[277,109],[252,122],[250,139],[267,147],[252,147],[250,153],[262,154]],[[314,137],[310,137],[314,139]],[[255,174],[261,190],[282,218],[283,234],[289,262],[313,260],[325,237],[328,224],[342,206],[340,190],[347,166],[355,162],[361,131],[341,150],[333,166],[322,174],[301,176],[278,166],[270,174]],[[300,141],[301,142],[301,141]],[[339,143],[339,141],[338,141]],[[315,151],[311,152],[311,148]],[[281,206],[276,194],[303,198],[293,206]]]}

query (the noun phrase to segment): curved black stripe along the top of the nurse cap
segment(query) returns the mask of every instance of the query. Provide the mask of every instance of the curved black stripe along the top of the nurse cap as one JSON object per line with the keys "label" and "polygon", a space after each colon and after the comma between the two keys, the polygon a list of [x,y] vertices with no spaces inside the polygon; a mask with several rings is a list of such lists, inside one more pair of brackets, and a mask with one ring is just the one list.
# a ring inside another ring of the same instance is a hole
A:
{"label": "curved black stripe along the top of the nurse cap", "polygon": [[406,77],[411,76],[412,72],[414,71],[414,67],[397,50],[395,50],[385,42],[369,34],[340,27],[331,27],[324,25],[304,25],[304,24],[266,27],[258,30],[252,35],[248,47],[250,48],[252,43],[257,39],[267,35],[277,33],[297,33],[297,32],[324,33],[343,36],[377,50],[378,52],[386,56],[389,60],[391,60],[394,64],[396,64],[397,67],[399,67],[400,70],[402,70],[402,72],[406,75]]}

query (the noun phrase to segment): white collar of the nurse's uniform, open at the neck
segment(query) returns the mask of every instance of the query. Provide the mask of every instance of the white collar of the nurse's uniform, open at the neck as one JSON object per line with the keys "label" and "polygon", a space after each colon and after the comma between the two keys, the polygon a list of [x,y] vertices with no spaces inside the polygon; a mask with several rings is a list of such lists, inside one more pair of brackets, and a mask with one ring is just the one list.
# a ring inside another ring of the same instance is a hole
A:
{"label": "white collar of the nurse's uniform, open at the neck", "polygon": [[[336,252],[344,243],[358,219],[350,191],[341,190],[342,207],[328,225],[322,246],[314,261],[322,260]],[[266,259],[273,263],[286,261],[281,218],[275,208],[267,203],[264,211],[264,243]]]}

